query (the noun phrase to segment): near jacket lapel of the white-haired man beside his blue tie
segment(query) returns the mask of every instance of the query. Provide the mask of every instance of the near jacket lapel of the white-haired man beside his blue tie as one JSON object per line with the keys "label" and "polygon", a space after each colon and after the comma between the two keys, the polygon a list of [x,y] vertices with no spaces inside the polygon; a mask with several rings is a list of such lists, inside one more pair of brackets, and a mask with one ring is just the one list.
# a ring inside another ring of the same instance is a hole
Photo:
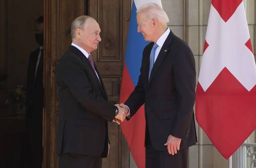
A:
{"label": "near jacket lapel of the white-haired man beside his blue tie", "polygon": [[[163,43],[163,46],[158,54],[158,57],[156,59],[156,62],[153,65],[152,71],[151,71],[151,75],[150,75],[150,80],[148,81],[148,85],[150,86],[152,79],[154,78],[158,68],[160,67],[160,65],[162,64],[164,58],[166,57],[168,51],[169,51],[169,45],[172,43],[173,41],[173,32],[170,31],[168,37],[166,38],[165,42]],[[151,47],[152,49],[152,47]],[[149,64],[149,61],[148,61]],[[147,68],[148,69],[148,68]],[[148,73],[148,72],[147,72]]]}

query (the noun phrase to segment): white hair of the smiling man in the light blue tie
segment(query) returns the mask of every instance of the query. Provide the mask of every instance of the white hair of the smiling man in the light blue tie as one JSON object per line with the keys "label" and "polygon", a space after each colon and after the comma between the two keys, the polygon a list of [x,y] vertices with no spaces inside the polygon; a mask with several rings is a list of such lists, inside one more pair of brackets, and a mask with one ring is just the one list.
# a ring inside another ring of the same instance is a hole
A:
{"label": "white hair of the smiling man in the light blue tie", "polygon": [[156,3],[145,4],[137,10],[137,14],[143,13],[146,15],[148,20],[156,18],[158,21],[165,23],[169,22],[169,18],[166,12]]}

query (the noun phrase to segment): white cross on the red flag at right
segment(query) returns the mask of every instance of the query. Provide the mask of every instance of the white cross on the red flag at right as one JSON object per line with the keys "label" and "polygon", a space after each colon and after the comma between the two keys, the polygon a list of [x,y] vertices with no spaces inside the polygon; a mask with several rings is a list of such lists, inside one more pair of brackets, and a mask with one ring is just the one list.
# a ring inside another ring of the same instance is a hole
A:
{"label": "white cross on the red flag at right", "polygon": [[226,67],[236,79],[250,91],[256,84],[256,65],[253,53],[245,43],[249,40],[244,4],[241,3],[225,22],[211,5],[205,40],[205,50],[199,75],[204,89],[211,85]]}

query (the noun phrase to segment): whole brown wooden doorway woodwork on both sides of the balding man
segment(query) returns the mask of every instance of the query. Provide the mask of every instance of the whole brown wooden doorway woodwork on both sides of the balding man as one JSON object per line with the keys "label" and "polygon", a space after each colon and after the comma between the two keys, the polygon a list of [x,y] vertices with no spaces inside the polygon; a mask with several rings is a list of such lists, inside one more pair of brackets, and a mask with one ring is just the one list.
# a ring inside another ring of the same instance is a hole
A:
{"label": "whole brown wooden doorway woodwork on both sides of the balding man", "polygon": [[[57,60],[71,44],[70,24],[85,13],[94,17],[101,28],[102,41],[92,53],[111,102],[118,102],[124,62],[126,36],[131,14],[130,0],[44,0],[44,168],[57,167],[56,131],[58,101],[55,83]],[[104,168],[129,167],[130,152],[120,127],[109,123],[111,153],[103,159]]]}

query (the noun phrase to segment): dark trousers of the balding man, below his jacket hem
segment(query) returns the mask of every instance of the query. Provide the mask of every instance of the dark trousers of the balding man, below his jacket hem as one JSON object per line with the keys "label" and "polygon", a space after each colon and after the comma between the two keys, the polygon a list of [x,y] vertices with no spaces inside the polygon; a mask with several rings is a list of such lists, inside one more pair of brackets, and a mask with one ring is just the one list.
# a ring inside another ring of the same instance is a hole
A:
{"label": "dark trousers of the balding man, below his jacket hem", "polygon": [[101,168],[101,156],[59,154],[59,168]]}

